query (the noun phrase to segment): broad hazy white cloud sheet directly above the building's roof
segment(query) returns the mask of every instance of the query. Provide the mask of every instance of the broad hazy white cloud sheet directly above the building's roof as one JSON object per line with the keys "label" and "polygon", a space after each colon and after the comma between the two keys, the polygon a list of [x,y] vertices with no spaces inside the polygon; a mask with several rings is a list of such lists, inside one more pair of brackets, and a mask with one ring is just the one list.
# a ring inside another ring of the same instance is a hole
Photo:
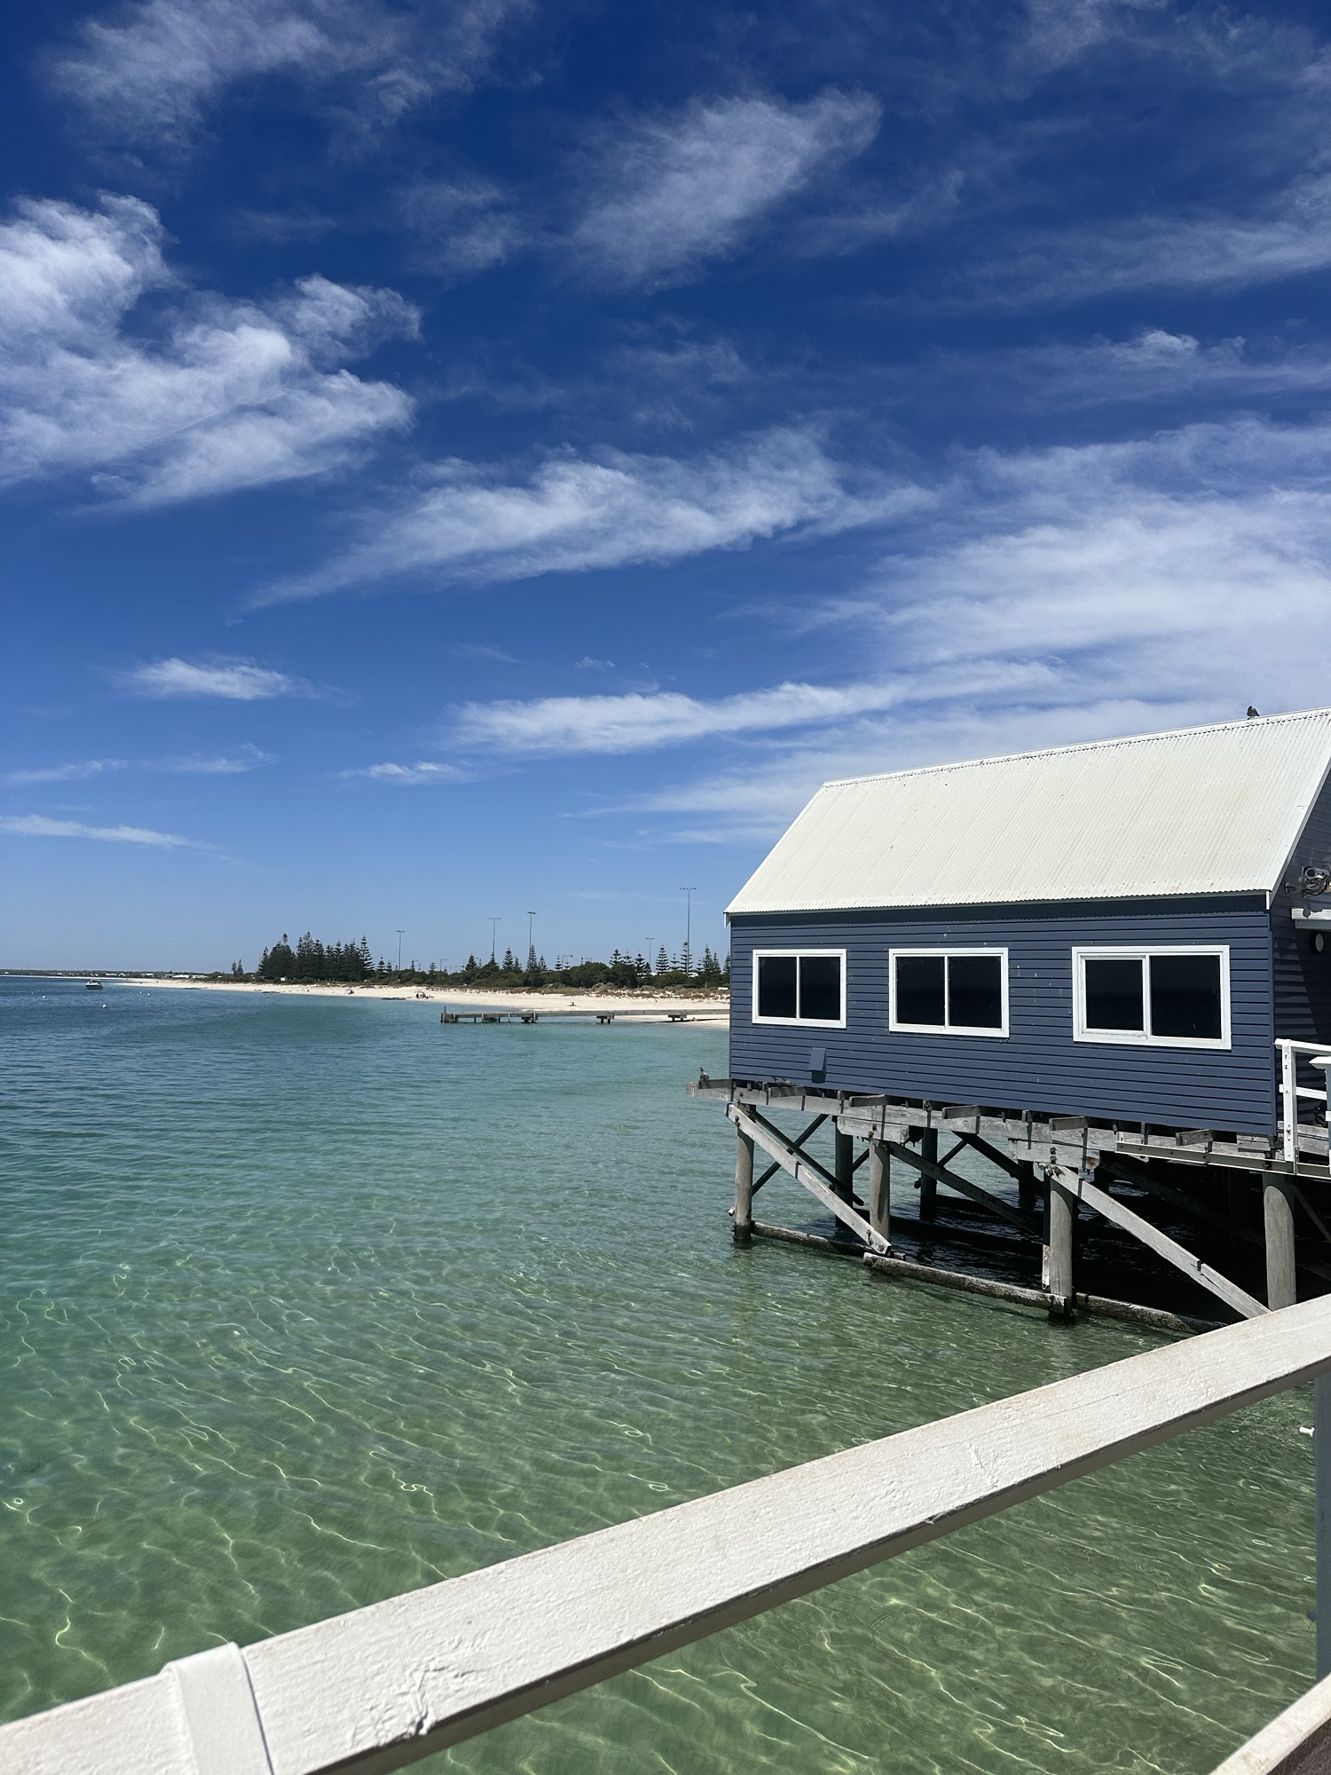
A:
{"label": "broad hazy white cloud sheet directly above the building's roof", "polygon": [[460,738],[511,754],[706,740],[703,776],[632,808],[687,816],[658,836],[752,841],[829,777],[1320,706],[1327,460],[1331,424],[1253,419],[974,453],[822,612],[825,657],[841,625],[859,683],[479,705]]}

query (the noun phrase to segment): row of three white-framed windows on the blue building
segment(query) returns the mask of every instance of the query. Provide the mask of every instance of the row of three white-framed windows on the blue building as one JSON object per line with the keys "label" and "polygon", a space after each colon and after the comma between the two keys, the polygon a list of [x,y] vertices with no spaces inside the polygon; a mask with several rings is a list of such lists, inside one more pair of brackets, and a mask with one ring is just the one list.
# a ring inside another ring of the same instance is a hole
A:
{"label": "row of three white-framed windows on the blue building", "polygon": [[[847,1024],[845,950],[756,950],[754,1022]],[[1006,950],[889,950],[887,1028],[1008,1035]],[[1072,1038],[1230,1045],[1228,948],[1072,951]]]}

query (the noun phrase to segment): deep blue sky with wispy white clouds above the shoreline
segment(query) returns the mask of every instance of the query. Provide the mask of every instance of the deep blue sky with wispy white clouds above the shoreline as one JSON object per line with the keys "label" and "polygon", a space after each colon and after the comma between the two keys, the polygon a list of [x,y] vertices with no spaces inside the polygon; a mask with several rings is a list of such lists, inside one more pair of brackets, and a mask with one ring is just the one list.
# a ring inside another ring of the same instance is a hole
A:
{"label": "deep blue sky with wispy white clouds above the shoreline", "polygon": [[0,83],[0,966],[724,950],[829,777],[1331,703],[1324,7],[48,4]]}

